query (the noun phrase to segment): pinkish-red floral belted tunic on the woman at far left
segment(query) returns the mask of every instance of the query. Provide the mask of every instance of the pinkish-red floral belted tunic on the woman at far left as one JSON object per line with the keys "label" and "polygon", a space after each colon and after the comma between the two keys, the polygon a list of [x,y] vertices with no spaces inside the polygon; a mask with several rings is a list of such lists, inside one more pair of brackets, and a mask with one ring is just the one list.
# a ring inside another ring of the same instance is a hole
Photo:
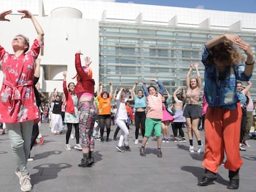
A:
{"label": "pinkish-red floral belted tunic on the woman at far left", "polygon": [[33,90],[34,64],[43,42],[35,40],[30,51],[20,56],[0,46],[4,78],[0,91],[0,122],[18,123],[38,119]]}

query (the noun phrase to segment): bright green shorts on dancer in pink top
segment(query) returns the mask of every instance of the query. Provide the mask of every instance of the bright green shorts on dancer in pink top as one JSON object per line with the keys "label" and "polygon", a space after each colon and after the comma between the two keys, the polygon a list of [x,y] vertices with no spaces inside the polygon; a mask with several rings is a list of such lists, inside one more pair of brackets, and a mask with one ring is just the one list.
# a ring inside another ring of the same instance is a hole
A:
{"label": "bright green shorts on dancer in pink top", "polygon": [[153,129],[155,131],[155,136],[159,136],[159,137],[162,136],[161,127],[162,127],[161,119],[146,118],[144,136],[150,137]]}

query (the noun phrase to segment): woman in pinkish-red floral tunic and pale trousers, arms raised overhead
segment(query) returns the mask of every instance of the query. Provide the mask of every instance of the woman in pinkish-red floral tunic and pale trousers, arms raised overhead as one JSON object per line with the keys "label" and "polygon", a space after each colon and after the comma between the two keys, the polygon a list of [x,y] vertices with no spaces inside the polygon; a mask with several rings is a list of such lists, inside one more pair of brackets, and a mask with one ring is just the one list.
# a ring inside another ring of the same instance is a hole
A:
{"label": "woman in pinkish-red floral tunic and pale trousers, arms raised overhead", "polygon": [[[35,17],[28,10],[18,10],[25,14],[23,18],[32,20],[37,36],[29,49],[28,38],[17,35],[12,40],[14,54],[9,54],[0,46],[0,59],[4,79],[0,91],[0,122],[6,123],[9,130],[12,152],[18,166],[16,175],[19,177],[20,190],[31,191],[30,175],[27,170],[27,159],[30,153],[33,122],[38,119],[38,108],[33,90],[35,59],[43,46],[44,32]],[[0,21],[10,21],[7,10],[0,13]]]}

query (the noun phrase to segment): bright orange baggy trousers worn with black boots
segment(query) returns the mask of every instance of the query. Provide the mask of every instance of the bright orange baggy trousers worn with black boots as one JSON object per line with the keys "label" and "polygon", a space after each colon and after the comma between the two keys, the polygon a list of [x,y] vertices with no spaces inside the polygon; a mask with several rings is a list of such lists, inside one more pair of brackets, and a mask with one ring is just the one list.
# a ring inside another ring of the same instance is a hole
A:
{"label": "bright orange baggy trousers worn with black boots", "polygon": [[224,159],[224,167],[235,172],[242,166],[239,151],[242,110],[220,109],[208,107],[205,115],[205,154],[203,167],[213,173],[218,173],[218,167]]}

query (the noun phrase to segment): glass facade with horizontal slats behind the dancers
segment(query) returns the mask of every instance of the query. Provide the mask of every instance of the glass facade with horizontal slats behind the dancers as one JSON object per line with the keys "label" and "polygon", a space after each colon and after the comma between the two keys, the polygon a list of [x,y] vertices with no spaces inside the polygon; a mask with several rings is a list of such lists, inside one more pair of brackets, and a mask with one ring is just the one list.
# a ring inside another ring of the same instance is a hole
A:
{"label": "glass facade with horizontal slats behind the dancers", "polygon": [[[189,27],[137,25],[100,22],[100,81],[130,87],[136,81],[150,83],[151,78],[163,81],[173,93],[178,86],[186,87],[190,61],[201,62],[203,44],[223,33],[236,33],[256,49],[256,33],[245,31],[210,30]],[[255,73],[254,69],[254,74]],[[192,73],[191,77],[195,77]],[[256,85],[255,75],[252,77]],[[256,98],[255,86],[251,89]]]}

